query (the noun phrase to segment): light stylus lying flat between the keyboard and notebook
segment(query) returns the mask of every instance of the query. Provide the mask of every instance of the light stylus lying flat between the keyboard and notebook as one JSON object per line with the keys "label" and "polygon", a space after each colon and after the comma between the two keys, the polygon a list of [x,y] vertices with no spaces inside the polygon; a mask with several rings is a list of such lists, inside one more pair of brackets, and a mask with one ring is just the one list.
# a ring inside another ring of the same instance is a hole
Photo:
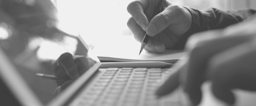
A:
{"label": "light stylus lying flat between the keyboard and notebook", "polygon": [[173,64],[165,63],[165,62],[110,62],[110,63],[101,63],[100,68],[123,68],[123,67],[131,67],[131,68],[161,68],[161,67],[170,67]]}

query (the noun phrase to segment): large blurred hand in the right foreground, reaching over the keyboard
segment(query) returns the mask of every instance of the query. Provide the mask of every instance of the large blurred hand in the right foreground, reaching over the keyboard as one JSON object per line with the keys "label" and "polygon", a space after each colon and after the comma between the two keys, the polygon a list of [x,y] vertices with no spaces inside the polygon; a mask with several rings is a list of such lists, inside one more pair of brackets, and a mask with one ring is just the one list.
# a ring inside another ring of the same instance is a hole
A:
{"label": "large blurred hand in the right foreground, reaching over the keyboard", "polygon": [[184,85],[191,102],[201,101],[201,85],[211,81],[214,95],[229,104],[235,102],[232,89],[256,91],[256,17],[253,20],[194,34],[186,43],[186,62],[158,88],[156,95]]}

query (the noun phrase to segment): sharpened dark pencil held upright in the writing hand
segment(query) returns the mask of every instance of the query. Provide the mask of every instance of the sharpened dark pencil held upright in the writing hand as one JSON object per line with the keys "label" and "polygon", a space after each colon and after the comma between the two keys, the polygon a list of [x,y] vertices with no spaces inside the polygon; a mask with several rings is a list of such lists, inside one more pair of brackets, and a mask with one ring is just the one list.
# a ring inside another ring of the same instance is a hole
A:
{"label": "sharpened dark pencil held upright in the writing hand", "polygon": [[[163,3],[164,3],[164,0],[159,0],[158,4],[157,4],[157,6],[156,6],[155,12],[154,12],[154,14],[153,14],[153,17],[160,13],[160,10],[161,10],[161,8],[162,8],[162,6],[163,6]],[[141,51],[142,51],[142,50],[144,49],[144,47],[146,46],[148,39],[149,39],[149,36],[147,35],[147,33],[145,33],[144,38],[143,38],[143,40],[142,40],[142,42],[141,42],[140,54],[141,54]],[[140,54],[139,54],[139,55],[140,55]]]}

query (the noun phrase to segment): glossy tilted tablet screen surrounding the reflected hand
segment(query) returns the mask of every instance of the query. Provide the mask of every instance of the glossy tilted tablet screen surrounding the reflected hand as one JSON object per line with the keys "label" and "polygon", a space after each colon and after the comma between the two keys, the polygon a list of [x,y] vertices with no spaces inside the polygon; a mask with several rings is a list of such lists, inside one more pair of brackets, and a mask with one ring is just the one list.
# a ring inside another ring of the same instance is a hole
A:
{"label": "glossy tilted tablet screen surrounding the reflected hand", "polygon": [[61,89],[59,86],[72,78],[57,81],[38,74],[60,76],[54,73],[54,62],[65,52],[85,56],[90,66],[95,61],[87,56],[88,50],[77,36],[49,26],[51,20],[47,14],[40,13],[40,6],[37,3],[25,5],[14,0],[1,2],[0,48],[41,102],[47,104],[70,83]]}

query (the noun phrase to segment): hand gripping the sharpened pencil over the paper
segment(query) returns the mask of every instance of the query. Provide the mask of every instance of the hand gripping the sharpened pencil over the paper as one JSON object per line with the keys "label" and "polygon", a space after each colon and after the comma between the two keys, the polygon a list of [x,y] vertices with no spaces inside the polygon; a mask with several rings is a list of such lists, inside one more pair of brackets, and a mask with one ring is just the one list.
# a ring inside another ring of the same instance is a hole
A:
{"label": "hand gripping the sharpened pencil over the paper", "polygon": [[134,1],[127,6],[132,15],[127,26],[138,42],[142,42],[145,33],[151,36],[146,51],[162,53],[173,47],[191,26],[191,14],[178,5],[164,0],[163,11],[152,17],[159,0]]}

